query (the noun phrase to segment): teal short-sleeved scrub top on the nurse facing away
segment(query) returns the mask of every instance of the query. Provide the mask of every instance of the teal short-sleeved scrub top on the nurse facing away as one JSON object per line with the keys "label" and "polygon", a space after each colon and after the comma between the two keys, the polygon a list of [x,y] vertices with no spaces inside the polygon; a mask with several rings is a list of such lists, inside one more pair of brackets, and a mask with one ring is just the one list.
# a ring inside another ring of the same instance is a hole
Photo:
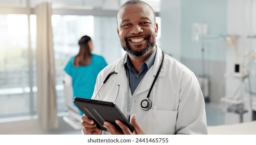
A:
{"label": "teal short-sleeved scrub top on the nurse facing away", "polygon": [[[72,77],[73,97],[91,98],[99,72],[107,66],[105,59],[92,54],[91,63],[87,66],[73,65],[75,56],[71,57],[64,70]],[[83,112],[80,111],[83,115]]]}

